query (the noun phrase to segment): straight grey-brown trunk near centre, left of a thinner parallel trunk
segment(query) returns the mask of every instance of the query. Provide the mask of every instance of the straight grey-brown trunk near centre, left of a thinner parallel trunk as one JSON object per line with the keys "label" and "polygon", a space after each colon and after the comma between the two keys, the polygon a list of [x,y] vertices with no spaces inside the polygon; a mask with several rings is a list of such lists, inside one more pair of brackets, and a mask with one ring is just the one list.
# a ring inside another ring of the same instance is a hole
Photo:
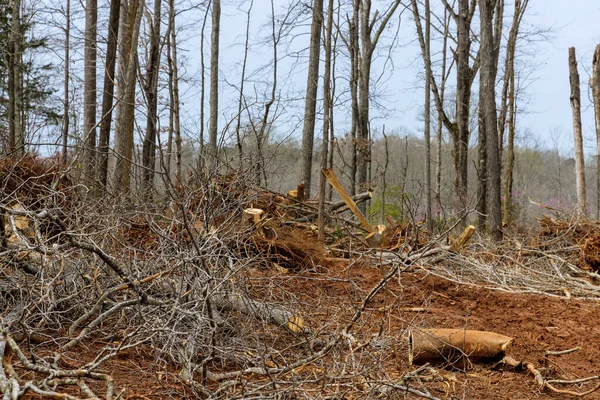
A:
{"label": "straight grey-brown trunk near centre, left of a thinner parallel trunk", "polygon": [[304,127],[302,129],[302,182],[307,197],[310,197],[312,179],[312,153],[315,139],[317,92],[319,88],[319,62],[321,53],[321,27],[323,24],[323,0],[313,0],[313,15],[310,28],[310,54],[306,100],[304,104]]}

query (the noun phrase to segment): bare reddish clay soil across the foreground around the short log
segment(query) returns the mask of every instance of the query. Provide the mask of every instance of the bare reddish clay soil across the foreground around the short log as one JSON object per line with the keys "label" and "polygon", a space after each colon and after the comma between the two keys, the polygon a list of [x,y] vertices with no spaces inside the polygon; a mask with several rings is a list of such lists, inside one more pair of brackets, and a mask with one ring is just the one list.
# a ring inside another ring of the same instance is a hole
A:
{"label": "bare reddish clay soil across the foreground around the short log", "polygon": [[[257,282],[276,282],[263,290],[277,297],[288,292],[299,304],[306,322],[314,328],[337,329],[345,325],[365,293],[379,281],[379,269],[336,264],[320,272],[277,275],[272,270],[255,270]],[[275,278],[274,278],[274,275]],[[333,278],[333,279],[332,279]],[[264,283],[263,282],[263,283]],[[258,290],[258,285],[257,285]],[[390,341],[379,355],[387,376],[399,378],[414,370],[408,364],[404,338],[409,327],[465,328],[488,330],[514,337],[508,354],[536,367],[544,366],[545,350],[581,347],[572,354],[552,357],[547,378],[576,379],[600,375],[600,306],[594,302],[566,301],[531,294],[515,294],[459,285],[426,274],[404,273],[389,283],[374,299],[353,335],[360,342],[381,332]],[[338,324],[339,322],[339,324]],[[337,325],[336,325],[337,324]],[[95,354],[94,349],[89,349]],[[81,355],[85,359],[85,354]],[[326,369],[320,361],[320,371]],[[425,383],[431,394],[443,399],[562,399],[568,396],[541,390],[526,372],[494,371],[490,365],[475,364],[468,371],[437,365],[443,382]],[[107,368],[108,369],[108,368]],[[111,361],[117,393],[123,399],[197,398],[178,378],[173,366],[157,362],[149,348],[129,350]],[[588,384],[589,388],[596,383]],[[415,386],[414,387],[418,387]],[[561,387],[577,390],[577,387]],[[581,390],[581,388],[579,388]],[[101,391],[99,391],[101,393]],[[313,398],[331,398],[323,393]],[[32,397],[33,398],[33,397]],[[39,397],[37,397],[39,398]],[[340,397],[337,397],[340,398]],[[368,398],[364,392],[348,391],[343,398]],[[395,398],[395,397],[394,397]],[[412,396],[397,398],[416,398]],[[600,391],[585,397],[600,399]]]}

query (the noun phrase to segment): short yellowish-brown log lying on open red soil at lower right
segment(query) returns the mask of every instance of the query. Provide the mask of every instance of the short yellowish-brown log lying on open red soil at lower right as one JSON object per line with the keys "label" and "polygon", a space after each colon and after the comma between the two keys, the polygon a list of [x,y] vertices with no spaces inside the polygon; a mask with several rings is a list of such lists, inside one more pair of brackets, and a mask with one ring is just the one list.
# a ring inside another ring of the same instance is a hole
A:
{"label": "short yellowish-brown log lying on open red soil at lower right", "polygon": [[465,329],[419,329],[408,333],[408,361],[411,364],[434,360],[454,362],[495,358],[504,354],[513,338],[494,332]]}

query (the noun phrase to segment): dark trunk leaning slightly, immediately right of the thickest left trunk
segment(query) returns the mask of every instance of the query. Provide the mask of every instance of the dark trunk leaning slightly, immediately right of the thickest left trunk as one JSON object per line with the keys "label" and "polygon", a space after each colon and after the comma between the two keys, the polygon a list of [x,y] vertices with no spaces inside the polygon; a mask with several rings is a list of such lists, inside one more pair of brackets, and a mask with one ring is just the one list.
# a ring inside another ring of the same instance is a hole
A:
{"label": "dark trunk leaning slightly, immediately right of the thickest left trunk", "polygon": [[146,65],[146,79],[144,82],[148,111],[146,113],[146,134],[142,147],[142,187],[146,195],[149,195],[153,186],[156,163],[158,71],[160,68],[160,13],[161,0],[154,0],[154,22],[150,23],[150,58]]}

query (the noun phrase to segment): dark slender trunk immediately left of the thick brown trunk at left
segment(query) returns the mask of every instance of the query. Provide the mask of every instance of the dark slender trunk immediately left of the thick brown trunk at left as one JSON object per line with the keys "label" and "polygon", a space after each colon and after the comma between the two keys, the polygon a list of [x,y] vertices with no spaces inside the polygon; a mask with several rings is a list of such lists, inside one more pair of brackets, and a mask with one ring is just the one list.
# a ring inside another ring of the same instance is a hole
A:
{"label": "dark slender trunk immediately left of the thick brown trunk at left", "polygon": [[[70,0],[69,0],[70,1]],[[119,18],[121,0],[111,0],[108,23],[108,43],[106,47],[106,70],[104,72],[104,92],[102,93],[102,122],[100,124],[98,181],[106,190],[108,184],[108,146],[112,125],[113,97],[115,92],[115,66],[117,62],[117,40],[119,38]]]}

